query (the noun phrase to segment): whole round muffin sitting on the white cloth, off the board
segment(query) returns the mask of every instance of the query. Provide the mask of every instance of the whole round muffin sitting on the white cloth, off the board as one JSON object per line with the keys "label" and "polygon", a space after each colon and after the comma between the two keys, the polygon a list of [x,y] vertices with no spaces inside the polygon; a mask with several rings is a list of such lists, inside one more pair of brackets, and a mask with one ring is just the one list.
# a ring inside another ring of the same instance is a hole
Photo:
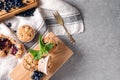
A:
{"label": "whole round muffin sitting on the white cloth, off the board", "polygon": [[35,31],[29,25],[24,25],[18,28],[17,37],[22,42],[30,42],[35,36]]}

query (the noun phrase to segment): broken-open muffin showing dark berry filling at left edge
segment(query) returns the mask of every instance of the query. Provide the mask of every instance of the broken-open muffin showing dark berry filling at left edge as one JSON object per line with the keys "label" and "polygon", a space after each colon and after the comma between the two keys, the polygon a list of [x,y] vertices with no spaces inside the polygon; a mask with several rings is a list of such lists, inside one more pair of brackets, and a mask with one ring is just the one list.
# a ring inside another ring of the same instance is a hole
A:
{"label": "broken-open muffin showing dark berry filling at left edge", "polygon": [[13,54],[17,58],[21,57],[24,52],[22,44],[17,43],[14,39],[0,34],[0,57]]}

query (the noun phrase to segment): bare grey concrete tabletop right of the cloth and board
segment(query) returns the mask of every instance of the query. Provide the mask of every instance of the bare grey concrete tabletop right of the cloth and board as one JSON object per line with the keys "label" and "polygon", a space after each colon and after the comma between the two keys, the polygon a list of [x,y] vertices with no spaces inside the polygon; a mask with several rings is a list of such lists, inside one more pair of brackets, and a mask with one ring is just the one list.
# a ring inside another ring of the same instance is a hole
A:
{"label": "bare grey concrete tabletop right of the cloth and board", "polygon": [[81,10],[85,32],[73,35],[74,56],[51,80],[120,80],[120,0],[65,0]]}

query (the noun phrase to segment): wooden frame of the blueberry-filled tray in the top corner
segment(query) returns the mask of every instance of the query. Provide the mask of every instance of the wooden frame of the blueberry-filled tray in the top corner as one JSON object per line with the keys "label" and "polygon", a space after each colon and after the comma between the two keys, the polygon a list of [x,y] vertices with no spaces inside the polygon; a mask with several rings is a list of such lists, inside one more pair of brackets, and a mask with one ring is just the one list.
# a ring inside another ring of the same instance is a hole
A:
{"label": "wooden frame of the blueberry-filled tray in the top corner", "polygon": [[[23,2],[25,2],[26,0],[23,0]],[[26,3],[26,2],[25,2]],[[0,21],[3,21],[5,19],[8,19],[10,17],[15,16],[18,13],[21,13],[23,11],[26,11],[28,9],[31,9],[33,7],[37,7],[38,5],[38,1],[37,0],[29,0],[29,3],[26,3],[27,5],[21,8],[16,8],[16,9],[12,9],[9,12],[6,12],[4,10],[0,11]]]}

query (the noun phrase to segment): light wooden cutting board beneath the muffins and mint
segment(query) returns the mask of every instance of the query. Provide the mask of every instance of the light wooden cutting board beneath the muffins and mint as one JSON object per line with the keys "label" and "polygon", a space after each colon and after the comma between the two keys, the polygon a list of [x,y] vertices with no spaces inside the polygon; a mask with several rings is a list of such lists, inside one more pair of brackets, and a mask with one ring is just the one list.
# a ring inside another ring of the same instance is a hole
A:
{"label": "light wooden cutting board beneath the muffins and mint", "polygon": [[[58,46],[56,51],[53,52],[52,56],[52,67],[48,71],[48,75],[45,75],[42,80],[49,80],[57,70],[73,55],[73,52],[53,33],[47,34],[50,38],[57,41]],[[39,49],[37,45],[35,50]],[[31,75],[33,72],[26,70],[23,65],[18,64],[11,72],[10,77],[12,80],[31,80]]]}

